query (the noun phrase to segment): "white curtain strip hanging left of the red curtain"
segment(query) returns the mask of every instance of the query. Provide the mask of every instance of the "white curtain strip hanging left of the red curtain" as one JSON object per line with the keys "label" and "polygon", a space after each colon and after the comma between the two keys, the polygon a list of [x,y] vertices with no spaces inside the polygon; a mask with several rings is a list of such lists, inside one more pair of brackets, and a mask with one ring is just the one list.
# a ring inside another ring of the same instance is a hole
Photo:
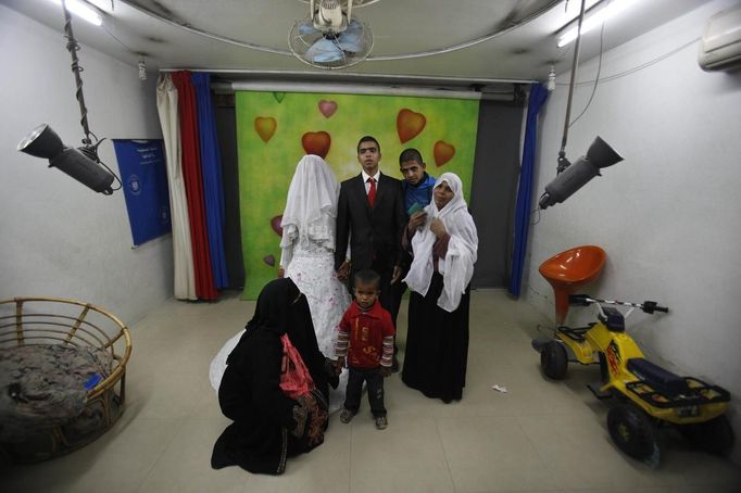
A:
{"label": "white curtain strip hanging left of the red curtain", "polygon": [[156,84],[156,110],[165,141],[169,211],[173,224],[175,298],[196,300],[193,254],[185,184],[180,168],[180,135],[177,121],[177,90],[169,74],[160,75]]}

